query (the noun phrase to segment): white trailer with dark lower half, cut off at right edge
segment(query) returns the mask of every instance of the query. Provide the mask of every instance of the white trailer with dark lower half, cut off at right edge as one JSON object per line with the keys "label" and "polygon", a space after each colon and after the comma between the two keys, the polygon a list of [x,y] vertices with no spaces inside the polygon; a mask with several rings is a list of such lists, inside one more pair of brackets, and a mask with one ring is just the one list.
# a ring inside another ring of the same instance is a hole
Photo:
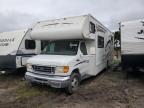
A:
{"label": "white trailer with dark lower half, cut off at right edge", "polygon": [[144,67],[144,19],[121,22],[122,68]]}

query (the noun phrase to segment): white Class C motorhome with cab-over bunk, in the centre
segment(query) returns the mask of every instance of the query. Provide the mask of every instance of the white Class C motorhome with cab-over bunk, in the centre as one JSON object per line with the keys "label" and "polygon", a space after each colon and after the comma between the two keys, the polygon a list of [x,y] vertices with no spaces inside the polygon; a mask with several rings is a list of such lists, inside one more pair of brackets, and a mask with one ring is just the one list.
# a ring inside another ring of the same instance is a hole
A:
{"label": "white Class C motorhome with cab-over bunk, in the centre", "polygon": [[113,34],[91,15],[38,22],[31,38],[47,40],[42,54],[27,61],[25,77],[33,83],[77,90],[112,61]]}

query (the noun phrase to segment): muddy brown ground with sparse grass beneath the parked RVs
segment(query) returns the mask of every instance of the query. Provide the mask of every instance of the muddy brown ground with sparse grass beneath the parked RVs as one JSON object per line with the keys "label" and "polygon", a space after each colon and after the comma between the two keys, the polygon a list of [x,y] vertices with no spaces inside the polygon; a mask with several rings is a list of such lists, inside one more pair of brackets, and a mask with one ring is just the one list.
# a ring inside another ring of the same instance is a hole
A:
{"label": "muddy brown ground with sparse grass beneath the parked RVs", "polygon": [[0,75],[0,108],[144,108],[144,73],[102,72],[77,93],[31,86],[21,74]]}

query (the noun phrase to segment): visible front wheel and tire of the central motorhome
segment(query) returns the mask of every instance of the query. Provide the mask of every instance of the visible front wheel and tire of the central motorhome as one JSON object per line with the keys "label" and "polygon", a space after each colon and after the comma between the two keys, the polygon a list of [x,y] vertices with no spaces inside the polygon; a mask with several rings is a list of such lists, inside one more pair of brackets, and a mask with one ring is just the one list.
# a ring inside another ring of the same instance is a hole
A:
{"label": "visible front wheel and tire of the central motorhome", "polygon": [[78,73],[72,73],[70,78],[70,84],[67,88],[65,88],[66,93],[71,95],[78,90],[80,84],[80,75]]}

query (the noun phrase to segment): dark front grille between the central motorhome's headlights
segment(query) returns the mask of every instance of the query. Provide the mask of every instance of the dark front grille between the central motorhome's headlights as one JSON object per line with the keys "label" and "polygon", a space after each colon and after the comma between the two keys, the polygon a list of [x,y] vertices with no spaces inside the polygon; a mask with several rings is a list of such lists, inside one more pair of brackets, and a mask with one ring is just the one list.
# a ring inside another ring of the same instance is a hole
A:
{"label": "dark front grille between the central motorhome's headlights", "polygon": [[33,65],[32,67],[33,67],[33,70],[36,72],[55,73],[54,67],[36,66],[36,65]]}

